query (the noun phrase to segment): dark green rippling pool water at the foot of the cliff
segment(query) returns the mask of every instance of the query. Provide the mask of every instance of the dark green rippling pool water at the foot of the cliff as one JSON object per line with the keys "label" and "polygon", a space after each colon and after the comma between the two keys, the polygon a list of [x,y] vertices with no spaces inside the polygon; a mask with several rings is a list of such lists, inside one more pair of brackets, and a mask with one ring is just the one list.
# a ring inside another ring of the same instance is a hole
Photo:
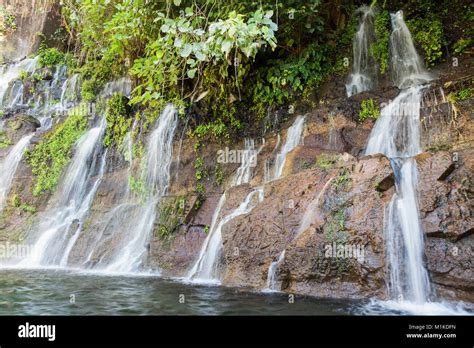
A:
{"label": "dark green rippling pool water at the foot of the cliff", "polygon": [[[75,303],[70,302],[71,295]],[[344,315],[355,304],[301,296],[289,303],[283,294],[158,277],[0,271],[0,315]]]}

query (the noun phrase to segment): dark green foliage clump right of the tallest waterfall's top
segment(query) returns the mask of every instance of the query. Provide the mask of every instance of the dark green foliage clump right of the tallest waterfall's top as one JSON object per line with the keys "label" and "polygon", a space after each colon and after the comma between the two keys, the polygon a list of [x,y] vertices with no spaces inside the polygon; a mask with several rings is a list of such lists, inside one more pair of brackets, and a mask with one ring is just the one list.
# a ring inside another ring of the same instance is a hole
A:
{"label": "dark green foliage clump right of the tallest waterfall's top", "polygon": [[443,55],[443,24],[439,19],[429,16],[408,20],[407,26],[413,35],[414,41],[425,52],[426,65],[433,66]]}

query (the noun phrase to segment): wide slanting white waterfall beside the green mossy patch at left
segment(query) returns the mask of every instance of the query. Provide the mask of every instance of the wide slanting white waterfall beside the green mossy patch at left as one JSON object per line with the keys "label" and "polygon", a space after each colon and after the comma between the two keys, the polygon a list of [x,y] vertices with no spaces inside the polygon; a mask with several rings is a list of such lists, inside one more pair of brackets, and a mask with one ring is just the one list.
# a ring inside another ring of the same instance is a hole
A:
{"label": "wide slanting white waterfall beside the green mossy patch at left", "polygon": [[102,120],[99,126],[90,129],[77,142],[76,152],[53,197],[53,207],[44,212],[39,223],[33,227],[33,235],[37,236],[33,252],[20,262],[20,266],[66,265],[104,173],[104,130],[105,120]]}

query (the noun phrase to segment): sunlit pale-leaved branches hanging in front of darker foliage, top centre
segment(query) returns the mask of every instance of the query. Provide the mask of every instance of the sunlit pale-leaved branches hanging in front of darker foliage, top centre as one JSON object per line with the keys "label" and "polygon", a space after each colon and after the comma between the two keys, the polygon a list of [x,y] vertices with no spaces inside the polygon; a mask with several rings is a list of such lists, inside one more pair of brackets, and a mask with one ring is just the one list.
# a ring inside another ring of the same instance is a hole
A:
{"label": "sunlit pale-leaved branches hanging in front of darker foliage, top centre", "polygon": [[176,18],[157,13],[160,34],[145,48],[145,57],[135,60],[131,69],[142,82],[132,103],[161,107],[163,98],[180,99],[186,81],[193,81],[193,91],[199,88],[206,67],[214,70],[207,74],[212,74],[217,91],[225,86],[219,82],[227,79],[234,80],[239,88],[246,73],[244,63],[262,47],[276,46],[272,15],[256,11],[245,18],[230,12],[225,19],[207,23],[190,7]]}

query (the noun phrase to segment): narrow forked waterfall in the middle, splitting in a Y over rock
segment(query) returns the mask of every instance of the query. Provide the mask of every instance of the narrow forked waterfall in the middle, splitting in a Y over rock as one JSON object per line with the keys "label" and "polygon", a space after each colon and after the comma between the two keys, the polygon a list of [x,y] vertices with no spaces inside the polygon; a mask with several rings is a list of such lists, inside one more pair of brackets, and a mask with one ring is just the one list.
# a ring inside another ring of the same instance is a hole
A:
{"label": "narrow forked waterfall in the middle, splitting in a Y over rock", "polygon": [[[263,146],[262,146],[263,147]],[[259,151],[262,149],[260,147]],[[245,152],[237,172],[232,180],[231,187],[248,183],[251,179],[252,168],[255,166],[258,152],[255,150],[255,142],[252,139],[245,139]],[[256,206],[255,196],[258,202],[263,200],[263,188],[251,191],[239,205],[228,215],[221,218],[221,210],[225,204],[226,192],[219,199],[216,210],[212,216],[209,234],[203,242],[199,256],[194,265],[189,270],[186,278],[197,282],[219,283],[219,256],[222,250],[222,227],[237,216],[248,214]]]}

